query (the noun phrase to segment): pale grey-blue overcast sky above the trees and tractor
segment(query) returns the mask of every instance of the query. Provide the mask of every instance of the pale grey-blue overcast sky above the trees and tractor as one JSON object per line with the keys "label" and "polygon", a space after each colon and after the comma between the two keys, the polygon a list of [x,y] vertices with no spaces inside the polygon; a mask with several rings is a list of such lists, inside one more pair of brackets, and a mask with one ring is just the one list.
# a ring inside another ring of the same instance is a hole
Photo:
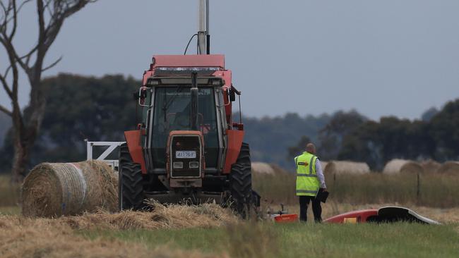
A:
{"label": "pale grey-blue overcast sky above the trees and tractor", "polygon": [[[65,23],[47,62],[64,59],[46,75],[141,79],[153,54],[183,53],[197,30],[197,6],[198,0],[90,4]],[[36,37],[33,7],[20,20],[22,51]],[[419,118],[459,97],[458,13],[457,0],[210,0],[211,51],[226,55],[248,116],[357,109],[374,119]],[[0,68],[6,61],[2,49]],[[22,80],[23,104],[27,94]],[[3,91],[0,102],[8,104]]]}

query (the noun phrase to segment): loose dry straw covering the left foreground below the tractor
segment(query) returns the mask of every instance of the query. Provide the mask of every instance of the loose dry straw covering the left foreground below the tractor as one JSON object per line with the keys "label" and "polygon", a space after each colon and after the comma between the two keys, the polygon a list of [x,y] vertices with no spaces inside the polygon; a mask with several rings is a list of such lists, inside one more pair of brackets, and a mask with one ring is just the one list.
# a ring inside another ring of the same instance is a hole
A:
{"label": "loose dry straw covering the left foreground below the tractor", "polygon": [[99,211],[58,219],[0,214],[0,257],[203,257],[201,252],[149,248],[143,242],[84,237],[81,232],[150,231],[218,228],[237,217],[216,204],[155,206],[152,212]]}

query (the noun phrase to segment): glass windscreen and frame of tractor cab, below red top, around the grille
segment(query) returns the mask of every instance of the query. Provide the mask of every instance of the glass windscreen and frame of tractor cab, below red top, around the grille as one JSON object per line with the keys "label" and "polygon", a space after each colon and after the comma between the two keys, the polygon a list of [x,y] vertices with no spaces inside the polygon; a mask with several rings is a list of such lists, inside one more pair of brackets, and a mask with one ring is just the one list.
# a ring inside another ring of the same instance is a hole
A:
{"label": "glass windscreen and frame of tractor cab, below red top, around the grille", "polygon": [[[196,85],[192,83],[193,76],[196,76]],[[153,158],[150,160],[150,167],[158,170],[166,168],[164,154],[167,152],[171,133],[175,135],[176,131],[193,131],[195,134],[199,132],[203,137],[204,164],[213,169],[208,172],[215,173],[222,168],[222,160],[219,160],[219,154],[225,146],[222,128],[227,126],[223,84],[222,78],[199,76],[196,73],[148,79],[147,96],[150,97],[145,99],[145,103],[151,108],[144,109],[143,121],[148,131],[144,144]],[[196,88],[196,92],[193,92],[193,88]],[[180,153],[181,156],[177,159],[196,156],[195,152]],[[177,161],[175,165],[179,167],[182,163]]]}

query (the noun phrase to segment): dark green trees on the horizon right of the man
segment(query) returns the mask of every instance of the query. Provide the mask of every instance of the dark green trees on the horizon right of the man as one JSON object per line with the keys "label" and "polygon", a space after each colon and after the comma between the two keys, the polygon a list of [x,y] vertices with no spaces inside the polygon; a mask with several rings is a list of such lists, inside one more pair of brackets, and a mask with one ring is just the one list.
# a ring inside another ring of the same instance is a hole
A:
{"label": "dark green trees on the horizon right of the man", "polygon": [[446,103],[437,113],[430,109],[423,118],[383,117],[358,123],[345,134],[333,127],[326,132],[342,139],[337,159],[365,161],[377,170],[391,159],[458,160],[459,99]]}

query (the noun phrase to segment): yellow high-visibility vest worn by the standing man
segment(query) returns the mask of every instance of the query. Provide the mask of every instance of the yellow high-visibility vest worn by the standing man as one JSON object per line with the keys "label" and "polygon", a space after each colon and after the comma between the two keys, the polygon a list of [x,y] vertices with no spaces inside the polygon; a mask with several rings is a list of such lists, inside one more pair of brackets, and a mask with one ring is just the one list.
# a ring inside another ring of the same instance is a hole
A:
{"label": "yellow high-visibility vest worn by the standing man", "polygon": [[297,195],[316,196],[320,183],[316,174],[317,157],[309,152],[295,157],[297,166]]}

